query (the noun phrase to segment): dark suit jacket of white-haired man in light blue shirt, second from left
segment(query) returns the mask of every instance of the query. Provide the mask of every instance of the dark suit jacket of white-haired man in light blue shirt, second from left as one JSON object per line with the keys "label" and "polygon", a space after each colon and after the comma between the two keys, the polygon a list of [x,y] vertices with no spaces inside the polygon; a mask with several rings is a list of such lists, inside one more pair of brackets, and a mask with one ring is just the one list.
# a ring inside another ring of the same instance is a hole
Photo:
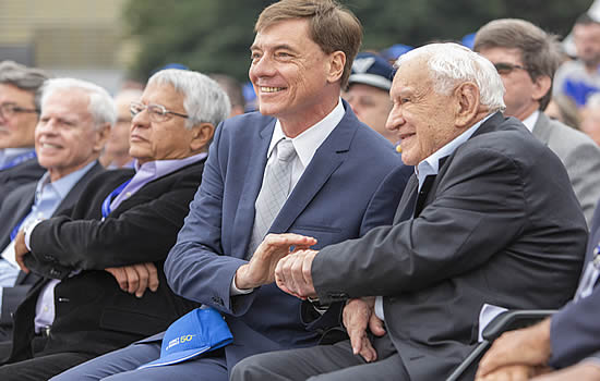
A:
{"label": "dark suit jacket of white-haired man in light blue shirt, second from left", "polygon": [[[62,199],[53,216],[58,216],[64,210],[73,207],[77,199],[80,198],[81,193],[87,185],[87,183],[98,173],[104,172],[103,165],[99,162],[96,162],[94,167],[85,173],[80,181],[69,190],[67,196]],[[2,250],[10,243],[10,234],[14,226],[16,226],[32,210],[32,206],[35,201],[35,189],[37,187],[37,182],[25,184],[13,192],[11,192],[7,198],[5,202],[2,204],[0,208],[0,250]],[[21,271],[14,287],[3,287],[2,288],[2,309],[0,315],[0,325],[2,328],[12,327],[12,314],[16,310],[16,307],[23,299],[25,295],[34,284],[39,279],[33,272],[28,274]]]}

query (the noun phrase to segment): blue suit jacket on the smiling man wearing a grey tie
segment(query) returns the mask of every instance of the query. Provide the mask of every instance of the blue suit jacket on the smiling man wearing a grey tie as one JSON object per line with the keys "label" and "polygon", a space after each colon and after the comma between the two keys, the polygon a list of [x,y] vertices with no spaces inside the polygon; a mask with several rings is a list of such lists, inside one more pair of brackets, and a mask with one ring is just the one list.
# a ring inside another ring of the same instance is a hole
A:
{"label": "blue suit jacket on the smiling man wearing a grey tie", "polygon": [[[344,119],[316,150],[269,232],[311,235],[321,248],[392,222],[412,170],[344,106]],[[275,119],[251,113],[217,128],[201,187],[165,263],[177,294],[225,315],[233,334],[225,348],[229,369],[253,354],[316,344],[324,329],[339,322],[339,306],[307,321],[301,314],[307,305],[274,284],[230,296],[235,273],[247,263],[274,126]]]}

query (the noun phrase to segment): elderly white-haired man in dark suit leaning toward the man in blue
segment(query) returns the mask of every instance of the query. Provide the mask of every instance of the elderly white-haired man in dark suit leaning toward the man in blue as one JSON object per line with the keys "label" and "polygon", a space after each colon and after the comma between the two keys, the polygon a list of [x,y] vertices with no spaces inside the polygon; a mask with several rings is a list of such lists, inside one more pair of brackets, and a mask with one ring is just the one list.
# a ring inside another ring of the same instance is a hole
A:
{"label": "elderly white-haired man in dark suit leaning toward the man in blue", "polygon": [[416,174],[394,224],[274,270],[289,294],[347,300],[350,340],[249,357],[232,380],[441,380],[494,312],[556,308],[575,291],[584,216],[559,158],[502,115],[494,66],[455,44],[397,65],[387,128]]}

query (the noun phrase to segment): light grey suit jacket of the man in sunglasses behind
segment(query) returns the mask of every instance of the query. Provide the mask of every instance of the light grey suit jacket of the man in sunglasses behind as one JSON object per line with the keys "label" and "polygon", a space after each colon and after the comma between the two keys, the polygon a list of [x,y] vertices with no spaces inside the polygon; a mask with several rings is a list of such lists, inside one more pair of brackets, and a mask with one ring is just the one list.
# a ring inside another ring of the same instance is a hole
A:
{"label": "light grey suit jacket of the man in sunglasses behind", "polygon": [[565,165],[589,226],[600,199],[600,147],[586,134],[551,120],[543,112],[533,126],[533,135]]}

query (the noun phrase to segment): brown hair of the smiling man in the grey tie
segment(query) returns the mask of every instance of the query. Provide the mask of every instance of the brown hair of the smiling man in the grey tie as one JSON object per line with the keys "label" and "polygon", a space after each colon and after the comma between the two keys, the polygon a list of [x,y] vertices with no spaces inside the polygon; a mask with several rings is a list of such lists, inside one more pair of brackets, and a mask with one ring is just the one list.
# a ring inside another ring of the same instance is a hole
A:
{"label": "brown hair of the smiling man in the grey tie", "polygon": [[263,10],[254,32],[291,19],[309,21],[310,38],[325,53],[343,51],[346,54],[341,75],[341,87],[346,87],[362,42],[362,26],[358,19],[335,0],[281,0]]}

